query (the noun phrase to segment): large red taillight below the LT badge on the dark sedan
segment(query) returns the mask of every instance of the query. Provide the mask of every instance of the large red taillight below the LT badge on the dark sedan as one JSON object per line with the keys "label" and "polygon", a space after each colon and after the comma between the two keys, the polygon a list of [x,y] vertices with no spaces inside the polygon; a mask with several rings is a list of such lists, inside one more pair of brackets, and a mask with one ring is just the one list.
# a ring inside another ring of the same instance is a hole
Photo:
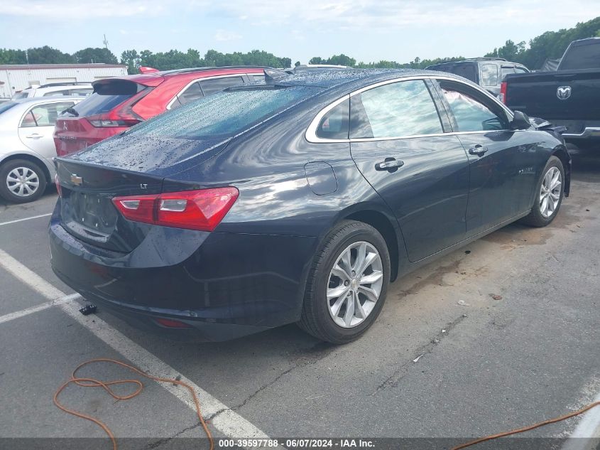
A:
{"label": "large red taillight below the LT badge on the dark sedan", "polygon": [[234,187],[115,197],[126,219],[189,230],[214,230],[239,195]]}

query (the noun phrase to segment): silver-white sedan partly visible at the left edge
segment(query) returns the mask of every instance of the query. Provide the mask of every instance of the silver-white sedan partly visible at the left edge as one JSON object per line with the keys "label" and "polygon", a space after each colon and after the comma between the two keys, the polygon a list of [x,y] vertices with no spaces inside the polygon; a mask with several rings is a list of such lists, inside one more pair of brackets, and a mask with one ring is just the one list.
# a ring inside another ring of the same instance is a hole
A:
{"label": "silver-white sedan partly visible at the left edge", "polygon": [[54,179],[58,115],[84,97],[38,97],[0,103],[0,195],[14,203],[39,198]]}

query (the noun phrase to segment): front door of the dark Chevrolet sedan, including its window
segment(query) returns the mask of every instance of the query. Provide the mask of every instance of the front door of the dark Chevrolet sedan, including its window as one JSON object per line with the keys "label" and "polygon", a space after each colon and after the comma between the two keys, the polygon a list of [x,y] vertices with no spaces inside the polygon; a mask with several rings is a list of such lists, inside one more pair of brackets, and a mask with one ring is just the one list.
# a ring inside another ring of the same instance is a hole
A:
{"label": "front door of the dark Chevrolet sedan, including its window", "polygon": [[498,102],[466,83],[439,80],[453,134],[469,158],[467,234],[475,235],[530,207],[537,134],[510,129]]}

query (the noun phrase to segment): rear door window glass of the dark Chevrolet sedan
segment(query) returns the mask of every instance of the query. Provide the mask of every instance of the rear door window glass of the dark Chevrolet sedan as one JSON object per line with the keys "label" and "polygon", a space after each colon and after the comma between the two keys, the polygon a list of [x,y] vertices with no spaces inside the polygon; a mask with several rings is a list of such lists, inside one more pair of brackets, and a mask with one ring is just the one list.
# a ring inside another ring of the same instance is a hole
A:
{"label": "rear door window glass of the dark Chevrolet sedan", "polygon": [[437,109],[422,80],[375,87],[352,98],[351,138],[442,133]]}

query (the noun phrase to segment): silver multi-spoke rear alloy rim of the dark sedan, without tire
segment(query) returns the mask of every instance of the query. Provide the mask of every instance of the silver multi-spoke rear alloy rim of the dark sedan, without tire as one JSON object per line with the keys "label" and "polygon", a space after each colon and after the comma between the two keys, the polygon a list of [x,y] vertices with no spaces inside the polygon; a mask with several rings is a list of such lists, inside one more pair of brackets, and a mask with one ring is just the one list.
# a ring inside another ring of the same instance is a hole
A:
{"label": "silver multi-spoke rear alloy rim of the dark sedan, without tire", "polygon": [[333,321],[354,328],[373,311],[383,286],[383,264],[369,242],[354,242],[339,254],[329,272],[327,306]]}

